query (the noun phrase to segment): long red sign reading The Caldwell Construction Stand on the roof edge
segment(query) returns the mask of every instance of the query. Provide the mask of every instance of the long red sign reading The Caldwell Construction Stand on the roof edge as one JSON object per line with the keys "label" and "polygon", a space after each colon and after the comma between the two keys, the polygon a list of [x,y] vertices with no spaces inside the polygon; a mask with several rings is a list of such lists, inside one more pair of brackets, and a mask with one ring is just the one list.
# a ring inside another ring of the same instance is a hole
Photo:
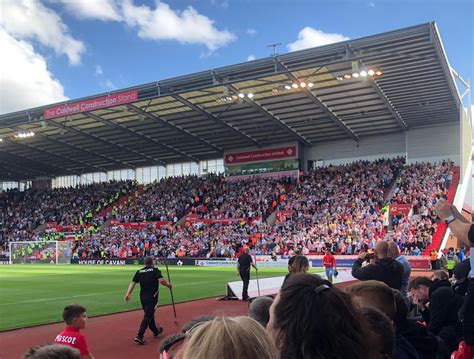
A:
{"label": "long red sign reading The Caldwell Construction Stand on the roof edge", "polygon": [[121,105],[124,103],[136,101],[137,99],[138,91],[130,90],[115,93],[110,96],[102,96],[90,100],[50,107],[44,110],[43,116],[45,120],[48,120],[50,118],[63,117],[85,111],[94,111],[100,108]]}

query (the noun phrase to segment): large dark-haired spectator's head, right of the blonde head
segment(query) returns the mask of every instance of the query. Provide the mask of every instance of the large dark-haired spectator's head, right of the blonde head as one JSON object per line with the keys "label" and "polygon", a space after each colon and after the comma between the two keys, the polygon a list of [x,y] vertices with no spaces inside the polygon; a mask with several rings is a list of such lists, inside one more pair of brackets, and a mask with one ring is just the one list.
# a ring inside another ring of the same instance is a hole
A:
{"label": "large dark-haired spectator's head, right of the blonde head", "polygon": [[367,323],[350,297],[321,277],[291,275],[270,309],[267,331],[282,357],[370,357]]}

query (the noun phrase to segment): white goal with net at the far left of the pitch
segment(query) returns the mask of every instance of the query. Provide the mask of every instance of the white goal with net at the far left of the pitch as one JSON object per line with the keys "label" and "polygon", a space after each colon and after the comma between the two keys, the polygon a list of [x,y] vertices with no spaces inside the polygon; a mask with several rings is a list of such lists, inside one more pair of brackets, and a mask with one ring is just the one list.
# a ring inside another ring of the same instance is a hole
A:
{"label": "white goal with net at the far left of the pitch", "polygon": [[72,257],[70,241],[10,242],[10,263],[69,264]]}

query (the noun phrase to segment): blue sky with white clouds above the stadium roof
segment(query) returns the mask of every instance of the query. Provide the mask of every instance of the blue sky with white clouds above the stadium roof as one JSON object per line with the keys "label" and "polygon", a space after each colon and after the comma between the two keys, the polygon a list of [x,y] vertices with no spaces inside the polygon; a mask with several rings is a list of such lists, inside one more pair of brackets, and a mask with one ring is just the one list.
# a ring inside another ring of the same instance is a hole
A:
{"label": "blue sky with white clouds above the stadium roof", "polygon": [[474,73],[471,0],[1,3],[0,113],[433,20],[451,65]]}

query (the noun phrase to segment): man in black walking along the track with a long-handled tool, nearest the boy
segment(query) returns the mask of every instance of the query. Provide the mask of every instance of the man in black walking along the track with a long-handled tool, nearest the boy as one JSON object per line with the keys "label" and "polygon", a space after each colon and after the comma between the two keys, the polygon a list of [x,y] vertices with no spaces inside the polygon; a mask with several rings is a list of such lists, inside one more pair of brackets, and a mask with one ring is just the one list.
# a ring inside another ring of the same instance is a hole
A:
{"label": "man in black walking along the track with a long-handled tool, nearest the boy", "polygon": [[157,337],[163,331],[163,328],[157,328],[155,323],[155,307],[158,304],[158,283],[161,283],[169,289],[172,288],[171,283],[161,275],[161,271],[155,268],[153,257],[146,257],[144,261],[145,267],[138,270],[133,276],[125,294],[125,301],[128,302],[132,296],[133,288],[137,283],[140,283],[140,302],[142,304],[145,315],[140,324],[140,329],[134,341],[140,345],[145,344],[143,335],[146,328],[150,328],[153,336]]}

